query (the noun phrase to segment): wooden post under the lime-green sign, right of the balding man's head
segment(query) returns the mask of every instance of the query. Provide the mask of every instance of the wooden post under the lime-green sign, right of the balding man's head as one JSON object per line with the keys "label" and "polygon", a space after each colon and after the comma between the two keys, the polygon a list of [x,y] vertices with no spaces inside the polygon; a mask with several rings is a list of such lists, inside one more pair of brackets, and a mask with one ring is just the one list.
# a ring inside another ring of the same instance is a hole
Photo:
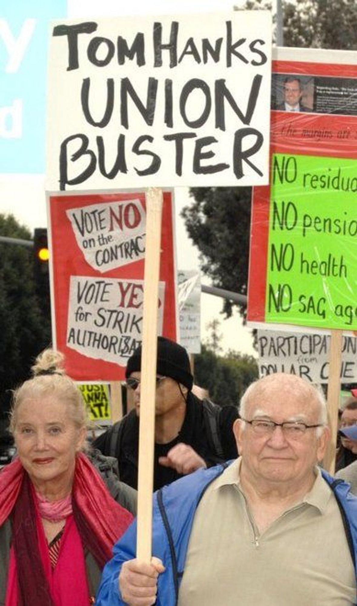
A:
{"label": "wooden post under the lime-green sign, right of the balding man's head", "polygon": [[342,330],[332,330],[329,356],[329,383],[327,385],[327,411],[329,413],[331,438],[323,461],[324,468],[331,474],[335,473],[341,361]]}

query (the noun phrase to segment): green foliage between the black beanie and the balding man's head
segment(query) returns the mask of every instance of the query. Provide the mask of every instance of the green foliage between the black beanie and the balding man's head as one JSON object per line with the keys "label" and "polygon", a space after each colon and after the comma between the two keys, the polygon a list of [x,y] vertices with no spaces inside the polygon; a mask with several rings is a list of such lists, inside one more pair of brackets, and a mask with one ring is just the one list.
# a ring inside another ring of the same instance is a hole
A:
{"label": "green foliage between the black beanie and the balding man's head", "polygon": [[203,345],[195,356],[195,384],[208,390],[209,398],[221,406],[237,406],[244,391],[258,378],[253,356],[229,351],[223,357]]}

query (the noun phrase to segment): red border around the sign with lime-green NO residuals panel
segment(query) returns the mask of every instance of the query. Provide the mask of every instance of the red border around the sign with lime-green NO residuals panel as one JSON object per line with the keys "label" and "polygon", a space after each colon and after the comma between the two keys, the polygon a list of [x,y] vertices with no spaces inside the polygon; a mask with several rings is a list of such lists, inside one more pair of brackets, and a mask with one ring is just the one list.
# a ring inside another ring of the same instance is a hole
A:
{"label": "red border around the sign with lime-green NO residuals panel", "polygon": [[[355,64],[275,60],[273,74],[357,78]],[[318,136],[316,133],[321,133]],[[333,136],[329,136],[333,133]],[[311,112],[270,115],[270,174],[272,155],[357,158],[357,116]],[[247,320],[265,321],[267,252],[269,240],[270,186],[254,187],[252,193]]]}

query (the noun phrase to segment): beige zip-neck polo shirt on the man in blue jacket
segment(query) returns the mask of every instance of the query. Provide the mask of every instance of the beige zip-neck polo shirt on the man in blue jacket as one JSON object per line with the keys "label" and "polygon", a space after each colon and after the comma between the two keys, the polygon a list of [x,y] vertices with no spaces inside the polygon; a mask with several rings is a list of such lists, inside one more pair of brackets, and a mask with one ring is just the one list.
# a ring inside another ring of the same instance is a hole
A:
{"label": "beige zip-neck polo shirt on the man in blue jacket", "polygon": [[353,562],[332,490],[316,468],[302,502],[262,534],[239,483],[240,459],[195,513],[179,606],[350,606]]}

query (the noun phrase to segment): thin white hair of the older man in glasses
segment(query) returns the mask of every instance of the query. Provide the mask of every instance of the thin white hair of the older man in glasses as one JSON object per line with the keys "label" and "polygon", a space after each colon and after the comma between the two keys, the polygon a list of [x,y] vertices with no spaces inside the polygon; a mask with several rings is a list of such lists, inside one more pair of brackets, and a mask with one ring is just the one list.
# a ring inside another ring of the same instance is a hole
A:
{"label": "thin white hair of the older man in glasses", "polygon": [[273,375],[264,376],[261,379],[257,379],[247,387],[246,391],[241,398],[239,405],[240,416],[245,419],[247,415],[247,407],[254,396],[255,391],[264,390],[269,385],[279,385],[281,387],[287,387],[289,390],[293,390],[295,393],[300,393],[301,398],[309,398],[311,401],[316,402],[319,406],[318,424],[323,427],[316,427],[316,437],[319,438],[323,433],[324,427],[327,426],[327,405],[324,392],[321,385],[308,382],[306,379],[298,377],[296,375],[289,375],[287,373],[276,373]]}

